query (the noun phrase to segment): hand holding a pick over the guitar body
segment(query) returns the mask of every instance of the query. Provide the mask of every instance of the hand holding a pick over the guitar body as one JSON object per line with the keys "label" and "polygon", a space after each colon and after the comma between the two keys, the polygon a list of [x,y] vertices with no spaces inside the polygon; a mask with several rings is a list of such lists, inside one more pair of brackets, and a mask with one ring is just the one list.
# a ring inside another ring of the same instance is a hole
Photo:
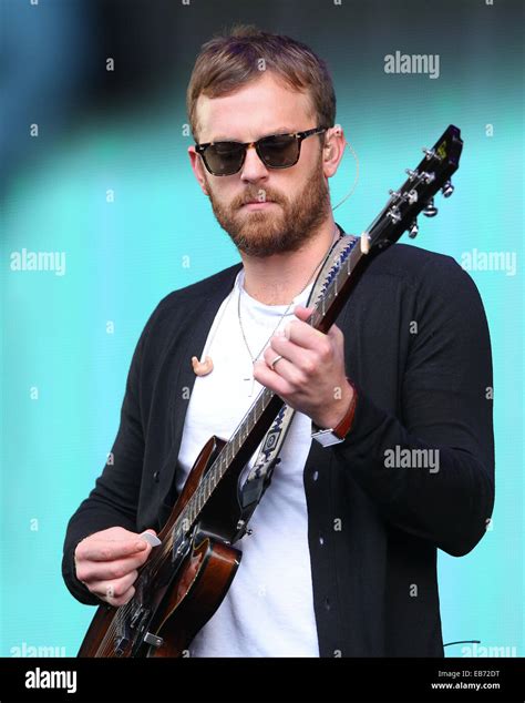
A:
{"label": "hand holding a pick over the guitar body", "polygon": [[[155,530],[147,531],[156,534]],[[76,578],[110,605],[124,605],[135,593],[137,569],[152,549],[136,532],[121,527],[101,530],[76,544]]]}

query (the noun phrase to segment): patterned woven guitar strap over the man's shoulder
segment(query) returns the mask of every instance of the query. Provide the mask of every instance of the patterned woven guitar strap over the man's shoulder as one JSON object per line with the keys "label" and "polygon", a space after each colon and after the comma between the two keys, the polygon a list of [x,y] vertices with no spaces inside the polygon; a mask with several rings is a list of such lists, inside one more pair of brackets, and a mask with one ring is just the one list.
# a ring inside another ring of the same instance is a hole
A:
{"label": "patterned woven guitar strap over the man's shoulder", "polygon": [[[319,303],[325,294],[327,286],[332,281],[340,266],[347,261],[350,252],[354,247],[359,237],[350,234],[342,234],[332,246],[330,254],[317,275],[313,287],[308,297],[307,307]],[[264,492],[271,481],[271,476],[277,463],[279,463],[279,454],[285,442],[286,436],[295,416],[295,410],[288,405],[284,405],[274,420],[270,429],[266,434],[257,459],[253,469],[241,488],[241,507],[243,520],[239,523],[240,539],[246,532],[246,527],[257,508]]]}

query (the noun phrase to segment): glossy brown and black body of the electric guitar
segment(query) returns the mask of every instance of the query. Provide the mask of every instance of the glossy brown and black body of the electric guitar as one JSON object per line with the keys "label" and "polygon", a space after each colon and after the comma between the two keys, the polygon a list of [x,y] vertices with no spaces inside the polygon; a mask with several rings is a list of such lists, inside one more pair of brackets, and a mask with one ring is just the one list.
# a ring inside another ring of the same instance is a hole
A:
{"label": "glossy brown and black body of the electric guitar", "polygon": [[[212,437],[200,451],[166,524],[158,533],[161,541],[164,542],[173,531],[177,518],[224,445],[224,440]],[[210,503],[205,513],[231,516],[228,493],[222,492],[223,496],[217,493],[214,508]],[[109,604],[100,605],[79,650],[79,656],[184,655],[195,634],[223,602],[241,558],[240,550],[225,543],[220,537],[224,531],[237,531],[237,513],[234,513],[233,527],[224,517],[220,521],[206,520],[205,513],[185,540],[186,543],[177,546],[174,560],[159,564],[158,571],[155,571],[152,601],[147,603],[145,593],[147,579],[152,578],[148,562],[142,568],[135,582],[134,600],[140,598],[142,601],[137,612],[133,613],[132,605],[130,612],[119,619],[119,612],[127,605],[119,609]],[[153,611],[154,618],[148,618]],[[142,638],[140,646],[136,646],[137,635]]]}

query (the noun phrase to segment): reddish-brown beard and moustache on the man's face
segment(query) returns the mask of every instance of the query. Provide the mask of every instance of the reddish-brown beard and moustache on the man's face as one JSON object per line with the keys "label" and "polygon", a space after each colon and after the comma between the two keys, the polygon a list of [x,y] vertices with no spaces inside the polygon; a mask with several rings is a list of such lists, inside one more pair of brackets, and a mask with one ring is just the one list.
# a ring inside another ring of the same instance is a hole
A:
{"label": "reddish-brown beard and moustache on the man's face", "polygon": [[[265,257],[295,252],[317,233],[330,208],[328,183],[322,174],[322,152],[302,191],[290,201],[267,187],[248,185],[246,191],[225,205],[214,195],[206,176],[212,208],[219,225],[235,246],[249,256]],[[274,201],[277,207],[239,213],[249,201]]]}

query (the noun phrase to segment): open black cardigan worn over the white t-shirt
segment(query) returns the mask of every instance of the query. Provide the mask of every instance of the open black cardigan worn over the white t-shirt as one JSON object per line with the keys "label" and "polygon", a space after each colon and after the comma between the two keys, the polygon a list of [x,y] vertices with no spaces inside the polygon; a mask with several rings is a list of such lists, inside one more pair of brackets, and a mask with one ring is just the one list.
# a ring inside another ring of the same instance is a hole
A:
{"label": "open black cardigan worn over the white t-shirt", "polygon": [[[200,356],[239,268],[171,293],[140,337],[113,465],[68,526],[63,577],[82,603],[101,601],[75,578],[78,542],[113,526],[159,529],[169,514],[191,357]],[[494,502],[483,305],[452,258],[395,244],[371,263],[336,324],[360,395],[348,438],[329,448],[312,441],[303,471],[320,653],[442,656],[436,550],[471,551]],[[439,449],[439,471],[388,466],[384,452],[397,447]]]}

